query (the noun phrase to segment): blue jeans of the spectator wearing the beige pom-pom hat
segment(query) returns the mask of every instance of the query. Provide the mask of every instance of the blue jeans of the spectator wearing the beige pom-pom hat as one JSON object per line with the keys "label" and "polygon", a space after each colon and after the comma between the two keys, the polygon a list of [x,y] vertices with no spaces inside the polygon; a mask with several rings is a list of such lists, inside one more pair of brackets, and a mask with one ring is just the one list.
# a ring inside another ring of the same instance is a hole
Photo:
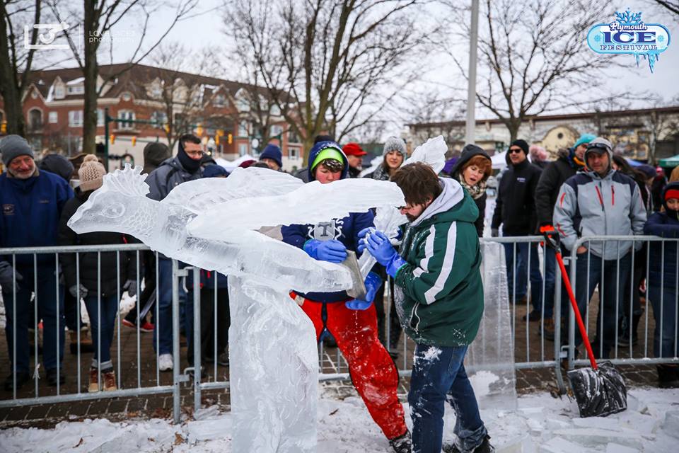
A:
{"label": "blue jeans of the spectator wearing the beige pom-pom hat", "polygon": [[[85,298],[87,314],[90,317],[92,328],[92,343],[94,345],[94,357],[92,367],[108,370],[113,367],[111,362],[111,343],[115,331],[115,315],[118,312],[117,294],[101,297],[101,312],[99,312],[98,297],[95,295]],[[101,341],[99,341],[101,339]],[[101,357],[99,357],[101,351]],[[97,359],[99,358],[99,364]]]}

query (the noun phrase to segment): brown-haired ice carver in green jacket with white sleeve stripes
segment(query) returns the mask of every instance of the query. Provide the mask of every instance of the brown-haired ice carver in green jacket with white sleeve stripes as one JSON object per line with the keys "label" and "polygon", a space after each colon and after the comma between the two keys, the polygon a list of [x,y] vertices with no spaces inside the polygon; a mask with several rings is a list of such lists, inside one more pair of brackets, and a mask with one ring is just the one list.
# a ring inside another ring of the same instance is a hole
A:
{"label": "brown-haired ice carver in green jacket with white sleeve stripes", "polygon": [[399,252],[382,231],[360,231],[366,249],[395,280],[396,309],[417,346],[410,380],[412,451],[439,453],[443,412],[450,397],[456,421],[454,445],[445,452],[493,452],[464,367],[483,314],[481,253],[473,198],[429,164],[402,166],[391,180],[405,195]]}

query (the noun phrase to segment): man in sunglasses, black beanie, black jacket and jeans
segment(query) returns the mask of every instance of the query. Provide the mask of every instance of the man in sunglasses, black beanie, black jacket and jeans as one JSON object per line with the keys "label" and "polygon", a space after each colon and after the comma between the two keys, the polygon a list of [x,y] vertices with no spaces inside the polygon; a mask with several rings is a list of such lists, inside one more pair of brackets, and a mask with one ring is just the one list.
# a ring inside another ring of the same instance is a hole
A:
{"label": "man in sunglasses, black beanie, black jacket and jeans", "polygon": [[[491,224],[492,235],[498,236],[502,225],[502,236],[530,236],[538,230],[535,210],[535,188],[540,180],[540,167],[530,164],[527,159],[526,140],[514,140],[509,145],[506,161],[509,169],[500,180],[495,201],[495,212]],[[523,321],[540,321],[542,306],[542,275],[538,258],[537,243],[505,243],[509,297],[519,304],[526,303],[527,279],[530,270],[530,303],[533,310],[523,316]],[[516,251],[516,256],[514,256]]]}

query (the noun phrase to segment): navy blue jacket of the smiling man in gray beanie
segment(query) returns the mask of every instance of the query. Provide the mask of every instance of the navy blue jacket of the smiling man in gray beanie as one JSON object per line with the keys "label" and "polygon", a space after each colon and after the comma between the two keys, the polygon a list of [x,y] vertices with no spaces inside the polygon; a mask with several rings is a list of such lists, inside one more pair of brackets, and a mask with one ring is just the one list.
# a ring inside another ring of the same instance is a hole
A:
{"label": "navy blue jacket of the smiling man in gray beanie", "polygon": [[[59,217],[73,197],[69,183],[40,170],[28,179],[0,176],[0,247],[56,246]],[[11,257],[1,257],[11,263]],[[32,255],[17,255],[17,265],[33,265]],[[54,255],[37,256],[38,265],[54,263]]]}

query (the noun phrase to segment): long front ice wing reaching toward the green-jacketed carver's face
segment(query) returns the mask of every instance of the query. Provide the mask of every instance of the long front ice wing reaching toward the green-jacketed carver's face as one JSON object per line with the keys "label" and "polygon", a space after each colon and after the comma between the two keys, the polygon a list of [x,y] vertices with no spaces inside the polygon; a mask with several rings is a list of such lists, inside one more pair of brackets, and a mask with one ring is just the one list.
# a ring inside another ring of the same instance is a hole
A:
{"label": "long front ice wing reaching toward the green-jacketed carver's face", "polygon": [[344,179],[329,184],[307,183],[285,195],[231,200],[199,214],[188,224],[192,236],[219,239],[225,224],[234,228],[314,224],[342,218],[349,212],[366,212],[376,206],[405,205],[395,183],[373,179]]}

